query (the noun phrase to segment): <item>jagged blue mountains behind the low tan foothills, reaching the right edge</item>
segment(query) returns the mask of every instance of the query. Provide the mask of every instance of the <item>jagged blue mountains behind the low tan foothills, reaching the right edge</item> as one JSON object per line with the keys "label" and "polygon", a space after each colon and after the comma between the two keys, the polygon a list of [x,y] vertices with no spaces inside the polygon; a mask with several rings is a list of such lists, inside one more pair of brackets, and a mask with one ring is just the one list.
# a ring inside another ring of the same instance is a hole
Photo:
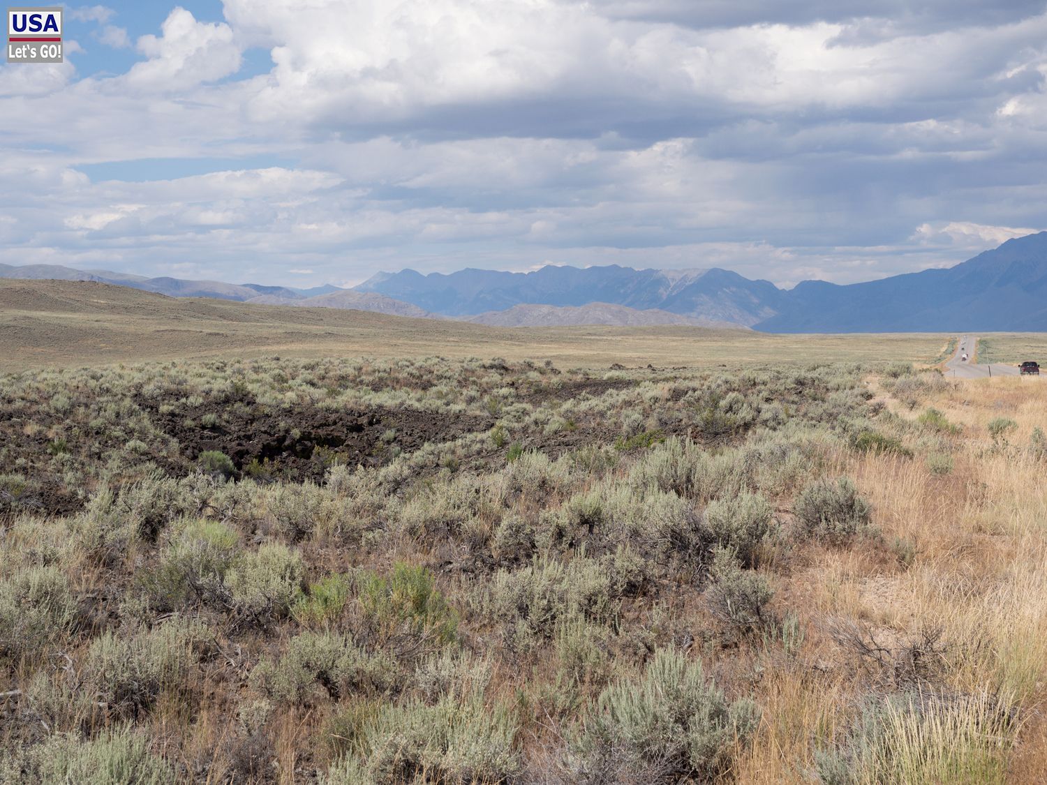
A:
{"label": "jagged blue mountains behind the low tan foothills, reaching the right edge", "polygon": [[[1047,232],[1008,240],[949,269],[840,286],[805,281],[778,289],[728,270],[543,267],[528,273],[460,270],[379,273],[356,287],[485,323],[520,304],[595,301],[729,322],[771,333],[890,333],[1047,330]],[[563,318],[564,314],[556,316]],[[564,322],[560,322],[564,323]],[[566,322],[571,323],[571,322]]]}

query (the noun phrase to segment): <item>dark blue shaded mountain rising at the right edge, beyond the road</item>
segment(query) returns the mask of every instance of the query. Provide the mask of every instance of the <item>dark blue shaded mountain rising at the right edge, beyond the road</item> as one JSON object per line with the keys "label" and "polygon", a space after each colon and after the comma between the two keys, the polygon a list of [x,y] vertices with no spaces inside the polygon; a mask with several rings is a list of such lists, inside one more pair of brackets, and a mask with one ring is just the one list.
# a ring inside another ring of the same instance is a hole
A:
{"label": "dark blue shaded mountain rising at the right edge, beyond the road", "polygon": [[943,270],[837,286],[805,281],[770,333],[1047,330],[1047,232],[1029,234]]}

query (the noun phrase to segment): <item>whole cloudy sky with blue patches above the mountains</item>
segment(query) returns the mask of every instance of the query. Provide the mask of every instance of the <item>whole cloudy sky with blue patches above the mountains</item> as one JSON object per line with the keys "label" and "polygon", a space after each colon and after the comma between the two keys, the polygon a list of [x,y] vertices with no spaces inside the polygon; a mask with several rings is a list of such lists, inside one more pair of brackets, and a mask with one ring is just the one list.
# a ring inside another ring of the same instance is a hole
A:
{"label": "whole cloudy sky with blue patches above the mountains", "polygon": [[66,5],[0,64],[0,263],[309,287],[723,267],[1047,228],[1047,0]]}

